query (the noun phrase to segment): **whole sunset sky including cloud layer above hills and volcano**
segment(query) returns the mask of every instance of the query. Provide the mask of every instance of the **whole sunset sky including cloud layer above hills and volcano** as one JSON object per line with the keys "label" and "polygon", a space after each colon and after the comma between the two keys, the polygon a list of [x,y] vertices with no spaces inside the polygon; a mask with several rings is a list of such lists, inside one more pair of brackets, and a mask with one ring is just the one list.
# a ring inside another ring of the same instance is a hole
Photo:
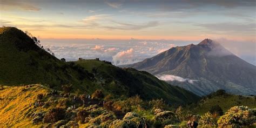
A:
{"label": "whole sunset sky including cloud layer above hills and volcano", "polygon": [[0,25],[29,31],[56,57],[115,65],[205,38],[256,65],[255,21],[255,0],[0,1]]}

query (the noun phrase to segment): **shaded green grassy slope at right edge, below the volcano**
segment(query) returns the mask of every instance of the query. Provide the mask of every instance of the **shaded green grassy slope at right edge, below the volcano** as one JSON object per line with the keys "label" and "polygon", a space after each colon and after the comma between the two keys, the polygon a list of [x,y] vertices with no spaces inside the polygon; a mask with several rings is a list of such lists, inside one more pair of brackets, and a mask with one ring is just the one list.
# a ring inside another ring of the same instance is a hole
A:
{"label": "shaded green grassy slope at right edge, below the volcano", "polygon": [[206,96],[201,99],[199,103],[192,109],[194,112],[198,114],[204,114],[208,112],[212,106],[219,105],[224,112],[230,109],[233,106],[248,106],[250,108],[256,109],[256,101],[253,96],[239,96],[239,95],[231,95],[225,93],[224,95],[211,95]]}

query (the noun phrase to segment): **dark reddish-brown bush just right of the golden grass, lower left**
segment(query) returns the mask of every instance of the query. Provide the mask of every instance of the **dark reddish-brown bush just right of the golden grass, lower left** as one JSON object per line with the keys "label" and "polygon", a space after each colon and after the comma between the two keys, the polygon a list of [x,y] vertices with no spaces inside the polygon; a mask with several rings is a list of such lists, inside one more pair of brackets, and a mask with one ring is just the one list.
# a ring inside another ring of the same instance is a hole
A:
{"label": "dark reddish-brown bush just right of the golden grass, lower left", "polygon": [[58,122],[59,120],[65,119],[65,109],[61,107],[53,108],[49,110],[44,118],[43,122],[44,123],[55,123]]}

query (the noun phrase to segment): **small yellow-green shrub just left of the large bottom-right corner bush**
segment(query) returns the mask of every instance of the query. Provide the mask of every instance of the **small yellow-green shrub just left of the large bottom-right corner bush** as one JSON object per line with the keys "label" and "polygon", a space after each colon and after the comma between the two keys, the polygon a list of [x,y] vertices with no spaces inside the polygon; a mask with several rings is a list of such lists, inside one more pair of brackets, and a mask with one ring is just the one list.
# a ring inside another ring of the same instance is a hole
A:
{"label": "small yellow-green shrub just left of the large bottom-right corner bush", "polygon": [[207,112],[199,119],[199,125],[202,127],[212,127],[217,124],[217,119],[213,117],[212,113]]}

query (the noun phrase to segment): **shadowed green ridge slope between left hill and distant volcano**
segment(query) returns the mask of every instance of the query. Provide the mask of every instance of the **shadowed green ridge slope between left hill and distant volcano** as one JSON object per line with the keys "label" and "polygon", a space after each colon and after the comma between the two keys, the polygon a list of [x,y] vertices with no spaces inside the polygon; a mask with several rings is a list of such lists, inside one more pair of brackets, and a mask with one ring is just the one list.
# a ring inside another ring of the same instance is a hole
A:
{"label": "shadowed green ridge slope between left hill and distant volcano", "polygon": [[[112,93],[134,96],[139,94],[143,99],[163,98],[169,103],[195,102],[199,97],[177,86],[171,86],[150,73],[134,69],[121,69],[99,60],[78,60],[76,64],[90,73],[94,73],[102,88]],[[97,71],[93,71],[95,68]],[[129,92],[127,91],[129,90]]]}

